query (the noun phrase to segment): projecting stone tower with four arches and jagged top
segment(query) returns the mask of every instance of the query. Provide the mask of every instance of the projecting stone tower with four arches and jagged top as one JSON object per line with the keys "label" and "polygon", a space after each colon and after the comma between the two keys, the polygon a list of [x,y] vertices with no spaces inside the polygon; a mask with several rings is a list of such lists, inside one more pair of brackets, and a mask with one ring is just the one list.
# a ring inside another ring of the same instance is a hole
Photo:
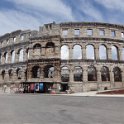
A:
{"label": "projecting stone tower with four arches and jagged top", "polygon": [[47,24],[30,38],[27,82],[43,85],[43,92],[60,87],[60,44],[58,26]]}

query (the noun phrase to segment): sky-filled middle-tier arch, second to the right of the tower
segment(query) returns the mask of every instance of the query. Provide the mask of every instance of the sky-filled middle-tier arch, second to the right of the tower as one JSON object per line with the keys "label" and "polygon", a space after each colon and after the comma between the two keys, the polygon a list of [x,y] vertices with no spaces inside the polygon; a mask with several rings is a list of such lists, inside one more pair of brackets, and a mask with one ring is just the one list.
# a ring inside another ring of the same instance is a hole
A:
{"label": "sky-filled middle-tier arch, second to the right of the tower", "polygon": [[80,45],[73,47],[73,59],[82,59],[82,49]]}

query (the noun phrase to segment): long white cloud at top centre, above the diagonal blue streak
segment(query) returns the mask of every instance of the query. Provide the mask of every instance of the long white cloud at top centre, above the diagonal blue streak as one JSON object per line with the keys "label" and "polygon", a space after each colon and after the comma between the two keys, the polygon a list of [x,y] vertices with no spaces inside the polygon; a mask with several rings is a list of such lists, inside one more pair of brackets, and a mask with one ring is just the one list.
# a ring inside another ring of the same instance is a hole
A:
{"label": "long white cloud at top centre, above the diagonal blue streak", "polygon": [[39,11],[42,14],[61,17],[67,20],[74,20],[72,10],[64,4],[62,0],[8,0],[18,6],[23,6],[27,10]]}

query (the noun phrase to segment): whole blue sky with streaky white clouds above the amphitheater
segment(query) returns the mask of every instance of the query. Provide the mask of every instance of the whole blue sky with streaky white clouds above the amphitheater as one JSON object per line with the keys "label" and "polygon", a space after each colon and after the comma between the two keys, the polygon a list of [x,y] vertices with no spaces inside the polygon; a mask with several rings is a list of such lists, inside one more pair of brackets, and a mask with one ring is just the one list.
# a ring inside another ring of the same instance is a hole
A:
{"label": "whole blue sky with streaky white clouds above the amphitheater", "polygon": [[65,21],[124,23],[124,0],[0,0],[0,35]]}

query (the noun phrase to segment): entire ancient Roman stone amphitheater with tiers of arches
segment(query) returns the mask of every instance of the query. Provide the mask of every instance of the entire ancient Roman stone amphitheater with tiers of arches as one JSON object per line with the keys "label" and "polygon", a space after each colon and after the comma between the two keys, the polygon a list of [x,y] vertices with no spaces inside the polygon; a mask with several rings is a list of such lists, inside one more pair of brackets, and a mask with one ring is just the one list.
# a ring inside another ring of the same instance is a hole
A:
{"label": "entire ancient Roman stone amphitheater with tiers of arches", "polygon": [[0,37],[0,87],[88,92],[124,87],[124,26],[55,22]]}

